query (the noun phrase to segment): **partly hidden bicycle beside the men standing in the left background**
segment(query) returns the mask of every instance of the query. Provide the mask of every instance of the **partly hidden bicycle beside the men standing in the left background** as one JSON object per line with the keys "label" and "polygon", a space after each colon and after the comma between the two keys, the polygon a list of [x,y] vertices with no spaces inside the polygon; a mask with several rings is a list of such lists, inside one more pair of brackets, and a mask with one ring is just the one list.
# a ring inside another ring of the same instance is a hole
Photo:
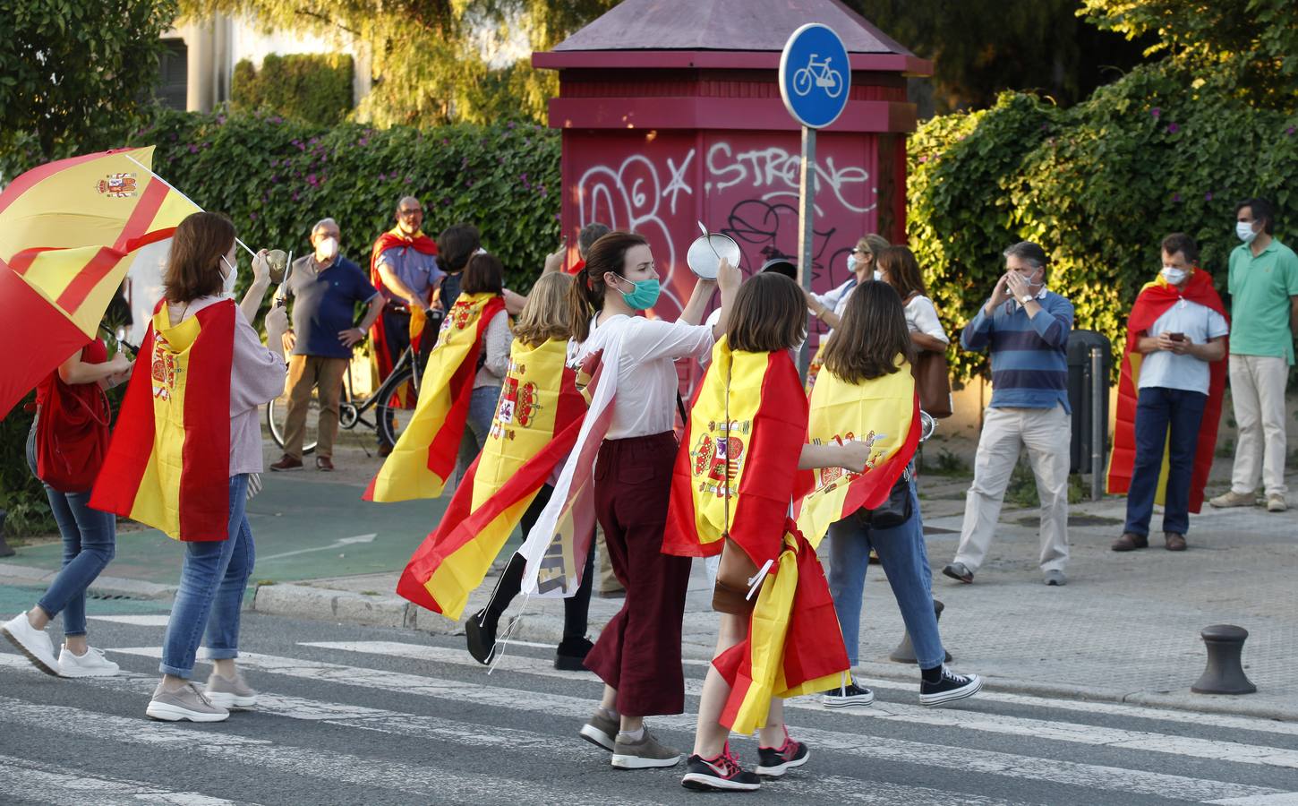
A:
{"label": "partly hidden bicycle beside the men standing in the left background", "polygon": [[[414,371],[414,348],[410,347],[401,353],[396,363],[392,366],[392,372],[383,379],[379,388],[370,393],[369,397],[357,398],[353,396],[352,366],[348,365],[347,374],[343,375],[343,396],[339,400],[337,406],[339,428],[350,431],[358,424],[365,426],[366,428],[374,428],[382,444],[388,446],[395,445],[397,437],[401,436],[401,431],[404,431],[410,423],[410,418],[414,415],[414,408],[395,408],[392,405],[392,397],[396,391],[406,383],[409,383],[410,388],[414,389],[413,397],[418,397],[419,380],[419,374]],[[365,413],[370,409],[374,409],[373,422],[365,417]],[[312,389],[312,398],[306,410],[306,436],[302,440],[302,456],[313,453],[319,441],[315,431],[319,423],[319,395],[317,393],[317,389]],[[270,431],[270,437],[276,445],[279,445],[280,449],[284,446],[287,421],[288,389],[286,388],[279,397],[266,404],[266,428]]]}

